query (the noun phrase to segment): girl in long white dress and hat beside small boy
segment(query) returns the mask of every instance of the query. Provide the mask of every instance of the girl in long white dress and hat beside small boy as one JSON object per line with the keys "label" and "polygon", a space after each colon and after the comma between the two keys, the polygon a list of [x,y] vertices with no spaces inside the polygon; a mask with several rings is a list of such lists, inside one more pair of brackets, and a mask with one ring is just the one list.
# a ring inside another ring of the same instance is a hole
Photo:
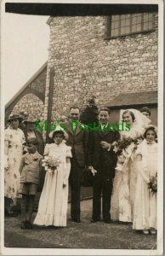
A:
{"label": "girl in long white dress and hat beside small boy", "polygon": [[65,131],[60,131],[58,126],[50,132],[49,137],[53,138],[54,143],[46,144],[44,155],[52,162],[51,166],[56,165],[56,168],[45,166],[47,173],[34,224],[66,226],[68,177],[71,169],[71,147],[65,145],[66,136]]}

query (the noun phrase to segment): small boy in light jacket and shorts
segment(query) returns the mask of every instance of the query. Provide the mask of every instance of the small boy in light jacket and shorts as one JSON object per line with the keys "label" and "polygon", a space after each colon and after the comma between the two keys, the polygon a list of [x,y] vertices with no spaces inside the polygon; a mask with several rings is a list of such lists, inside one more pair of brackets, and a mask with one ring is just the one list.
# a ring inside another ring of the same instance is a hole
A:
{"label": "small boy in light jacket and shorts", "polygon": [[37,138],[31,137],[26,142],[27,153],[20,160],[20,190],[22,195],[21,229],[31,229],[31,214],[33,212],[35,195],[37,194],[42,170],[43,156],[37,152]]}

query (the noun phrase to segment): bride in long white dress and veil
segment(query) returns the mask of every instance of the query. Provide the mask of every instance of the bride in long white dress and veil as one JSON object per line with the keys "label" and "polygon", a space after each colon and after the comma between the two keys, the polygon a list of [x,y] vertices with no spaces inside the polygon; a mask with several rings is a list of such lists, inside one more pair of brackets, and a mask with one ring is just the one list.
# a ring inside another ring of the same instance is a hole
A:
{"label": "bride in long white dress and veil", "polygon": [[[113,190],[111,195],[111,219],[122,222],[132,222],[134,216],[134,194],[136,185],[136,172],[134,169],[134,142],[142,137],[145,125],[151,120],[146,118],[136,109],[121,110],[120,124],[122,120],[130,125],[129,131],[121,131],[121,141],[131,140],[128,146],[128,154],[122,165],[118,157]],[[132,147],[133,146],[133,147]],[[132,148],[131,148],[132,147]]]}

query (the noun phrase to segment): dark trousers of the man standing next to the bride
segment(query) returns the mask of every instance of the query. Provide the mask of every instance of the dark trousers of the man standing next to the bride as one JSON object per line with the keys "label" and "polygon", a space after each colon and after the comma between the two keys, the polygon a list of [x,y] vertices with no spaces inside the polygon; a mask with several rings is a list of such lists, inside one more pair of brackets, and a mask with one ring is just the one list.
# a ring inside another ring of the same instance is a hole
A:
{"label": "dark trousers of the man standing next to the bride", "polygon": [[101,217],[101,195],[102,195],[102,215],[103,220],[111,220],[111,192],[112,192],[112,178],[102,177],[96,174],[93,184],[93,216],[94,220]]}

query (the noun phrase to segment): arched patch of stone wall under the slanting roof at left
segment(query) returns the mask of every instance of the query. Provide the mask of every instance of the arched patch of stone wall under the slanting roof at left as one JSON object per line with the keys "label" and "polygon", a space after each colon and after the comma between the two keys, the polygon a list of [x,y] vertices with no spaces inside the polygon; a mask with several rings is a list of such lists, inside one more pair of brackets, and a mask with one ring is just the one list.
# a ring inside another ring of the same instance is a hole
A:
{"label": "arched patch of stone wall under the slanting roof at left", "polygon": [[23,96],[20,101],[14,106],[12,113],[20,113],[26,111],[36,119],[43,120],[43,102],[33,94]]}

